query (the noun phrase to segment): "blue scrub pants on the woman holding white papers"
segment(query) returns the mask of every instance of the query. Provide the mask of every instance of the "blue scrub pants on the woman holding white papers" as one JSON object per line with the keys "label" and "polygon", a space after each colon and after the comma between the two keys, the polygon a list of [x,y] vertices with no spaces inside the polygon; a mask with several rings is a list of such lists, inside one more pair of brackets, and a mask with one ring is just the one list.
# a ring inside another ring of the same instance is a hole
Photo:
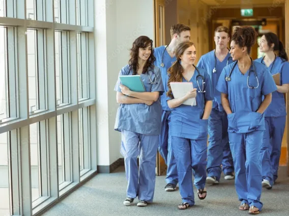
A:
{"label": "blue scrub pants on the woman holding white papers", "polygon": [[204,189],[206,185],[207,138],[201,140],[171,136],[172,148],[177,161],[179,188],[183,202],[190,206],[195,204],[194,185],[197,189]]}

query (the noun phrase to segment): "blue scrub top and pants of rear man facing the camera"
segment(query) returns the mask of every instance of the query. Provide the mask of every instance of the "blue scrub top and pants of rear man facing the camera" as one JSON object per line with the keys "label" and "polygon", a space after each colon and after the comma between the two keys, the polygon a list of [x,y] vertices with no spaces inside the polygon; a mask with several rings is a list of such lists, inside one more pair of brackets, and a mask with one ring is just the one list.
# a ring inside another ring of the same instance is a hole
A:
{"label": "blue scrub top and pants of rear man facing the camera", "polygon": [[223,166],[223,172],[234,172],[233,158],[230,151],[228,140],[228,120],[227,114],[223,109],[221,103],[221,92],[216,90],[216,85],[221,75],[223,68],[232,63],[232,57],[228,53],[222,62],[216,58],[216,73],[213,73],[215,67],[215,54],[214,50],[201,56],[197,66],[204,68],[212,82],[213,87],[213,107],[209,118],[209,147],[208,147],[208,164],[207,172],[208,176],[217,178],[220,181],[221,177],[221,164]]}

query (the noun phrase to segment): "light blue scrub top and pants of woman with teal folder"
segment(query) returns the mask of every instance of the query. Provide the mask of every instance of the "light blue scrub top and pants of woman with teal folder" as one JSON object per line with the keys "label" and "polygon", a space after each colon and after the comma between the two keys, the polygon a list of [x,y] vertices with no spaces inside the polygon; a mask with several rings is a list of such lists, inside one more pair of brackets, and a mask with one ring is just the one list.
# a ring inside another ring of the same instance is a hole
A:
{"label": "light blue scrub top and pants of woman with teal folder", "polygon": [[[156,82],[151,84],[151,80]],[[132,75],[126,65],[121,75]],[[155,67],[140,75],[147,92],[163,93],[160,69]],[[121,92],[121,81],[118,79],[114,87]],[[160,99],[152,105],[145,103],[120,104],[115,119],[114,129],[122,132],[121,154],[125,159],[126,177],[128,181],[127,197],[152,202],[156,180],[156,155],[161,127]],[[139,155],[139,170],[137,156]],[[139,176],[138,176],[139,171]]]}

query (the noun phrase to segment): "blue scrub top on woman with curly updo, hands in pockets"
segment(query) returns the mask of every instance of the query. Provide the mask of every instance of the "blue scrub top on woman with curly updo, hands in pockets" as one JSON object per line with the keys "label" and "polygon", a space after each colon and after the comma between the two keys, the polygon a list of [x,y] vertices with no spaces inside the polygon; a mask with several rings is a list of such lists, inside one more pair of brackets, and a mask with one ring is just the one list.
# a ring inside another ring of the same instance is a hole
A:
{"label": "blue scrub top on woman with curly updo, hands in pockets", "polygon": [[243,75],[238,67],[235,66],[231,81],[225,81],[235,63],[226,66],[219,78],[217,90],[228,94],[228,100],[232,114],[228,118],[228,132],[247,133],[255,130],[265,130],[264,113],[256,111],[262,103],[262,96],[270,94],[277,90],[269,70],[264,64],[253,61],[255,72],[257,74],[259,86],[256,89],[250,89],[247,86],[249,76],[249,86],[257,87],[257,80],[253,73],[253,67],[250,67],[250,73]]}

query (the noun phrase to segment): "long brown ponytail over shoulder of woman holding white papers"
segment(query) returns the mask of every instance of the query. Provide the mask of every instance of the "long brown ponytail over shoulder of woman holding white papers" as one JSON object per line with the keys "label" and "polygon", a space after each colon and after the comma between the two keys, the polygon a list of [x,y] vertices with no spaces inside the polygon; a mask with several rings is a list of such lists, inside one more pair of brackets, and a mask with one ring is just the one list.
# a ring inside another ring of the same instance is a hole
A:
{"label": "long brown ponytail over shoulder of woman holding white papers", "polygon": [[168,91],[166,93],[166,95],[168,97],[173,97],[172,92],[171,92],[171,88],[169,83],[170,82],[182,82],[183,81],[183,73],[184,69],[180,63],[180,60],[177,60],[174,62],[174,64],[171,65],[170,68],[168,68],[167,72],[168,72],[168,81],[167,81],[167,87],[168,87]]}

